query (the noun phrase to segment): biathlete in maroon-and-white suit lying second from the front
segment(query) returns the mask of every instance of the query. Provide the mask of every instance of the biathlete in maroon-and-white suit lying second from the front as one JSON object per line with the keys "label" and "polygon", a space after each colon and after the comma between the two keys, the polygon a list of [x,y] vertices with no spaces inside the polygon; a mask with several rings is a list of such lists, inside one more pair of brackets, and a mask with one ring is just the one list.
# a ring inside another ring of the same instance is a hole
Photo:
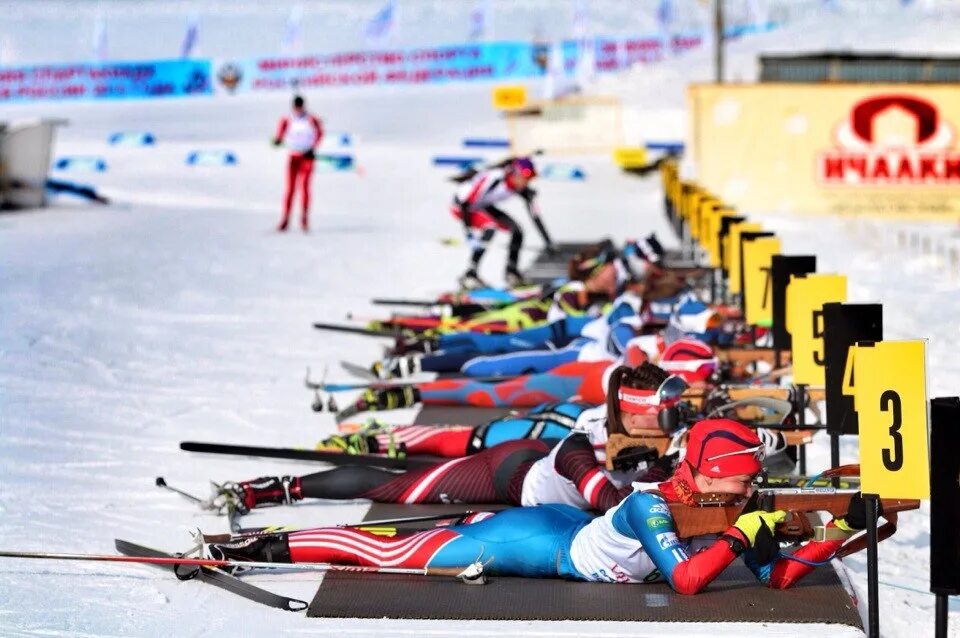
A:
{"label": "biathlete in maroon-and-white suit lying second from the front", "polygon": [[[304,498],[365,498],[381,503],[565,503],[605,511],[630,494],[632,482],[666,479],[675,459],[675,455],[658,458],[654,447],[639,445],[620,451],[609,464],[613,469],[608,469],[609,436],[649,436],[658,428],[660,412],[674,409],[686,388],[682,379],[650,363],[635,370],[621,367],[613,373],[606,404],[581,411],[576,426],[559,443],[556,439],[509,441],[471,456],[401,473],[344,466],[306,476],[226,483],[219,487],[215,502],[232,503],[240,512]],[[430,426],[414,427],[413,436],[420,437]],[[470,435],[466,429],[438,430],[434,449],[444,440],[462,449],[469,446]],[[777,436],[772,433],[765,438],[776,445]]]}

